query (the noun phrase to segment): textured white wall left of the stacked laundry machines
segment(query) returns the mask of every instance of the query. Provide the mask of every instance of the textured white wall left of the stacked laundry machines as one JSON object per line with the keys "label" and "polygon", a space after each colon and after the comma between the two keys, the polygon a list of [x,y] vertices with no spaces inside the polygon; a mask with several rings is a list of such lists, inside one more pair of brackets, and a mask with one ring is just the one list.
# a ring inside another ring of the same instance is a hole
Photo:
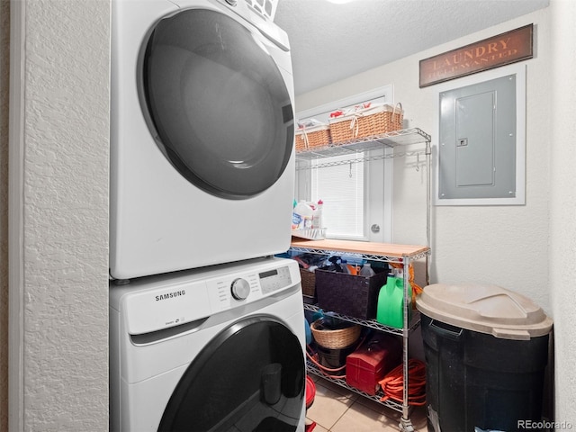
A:
{"label": "textured white wall left of the stacked laundry machines", "polygon": [[110,2],[12,7],[10,430],[104,431]]}

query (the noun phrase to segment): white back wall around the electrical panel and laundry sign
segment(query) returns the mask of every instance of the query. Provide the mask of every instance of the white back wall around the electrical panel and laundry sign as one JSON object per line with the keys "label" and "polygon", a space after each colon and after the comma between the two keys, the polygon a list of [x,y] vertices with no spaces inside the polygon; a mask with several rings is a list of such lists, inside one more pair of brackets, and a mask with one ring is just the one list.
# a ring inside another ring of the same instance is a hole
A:
{"label": "white back wall around the electrical panel and laundry sign", "polygon": [[[528,23],[536,26],[536,58],[527,60],[527,204],[432,209],[432,282],[496,283],[526,293],[550,312],[547,292],[549,25],[548,10],[528,14],[392,64],[329,85],[296,101],[298,111],[394,85],[394,101],[405,110],[405,127],[432,135],[437,146],[437,85],[419,88],[419,60]],[[478,75],[479,77],[481,75]],[[480,79],[480,78],[479,78]],[[458,87],[458,80],[451,82]],[[436,148],[434,148],[436,150]],[[395,243],[426,244],[426,173],[414,157],[394,159],[393,238]],[[434,175],[433,175],[434,178]],[[434,190],[433,190],[434,192]],[[540,260],[540,261],[539,261]]]}

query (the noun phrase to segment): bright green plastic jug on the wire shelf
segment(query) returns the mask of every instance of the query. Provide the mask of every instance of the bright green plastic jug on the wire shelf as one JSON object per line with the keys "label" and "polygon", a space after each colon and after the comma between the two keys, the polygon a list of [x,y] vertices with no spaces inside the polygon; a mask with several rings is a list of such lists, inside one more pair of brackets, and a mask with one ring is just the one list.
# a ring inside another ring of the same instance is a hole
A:
{"label": "bright green plastic jug on the wire shelf", "polygon": [[[410,307],[408,321],[412,317],[412,289],[408,284]],[[404,326],[404,280],[401,277],[388,276],[386,284],[378,293],[376,321],[384,326],[401,329]]]}

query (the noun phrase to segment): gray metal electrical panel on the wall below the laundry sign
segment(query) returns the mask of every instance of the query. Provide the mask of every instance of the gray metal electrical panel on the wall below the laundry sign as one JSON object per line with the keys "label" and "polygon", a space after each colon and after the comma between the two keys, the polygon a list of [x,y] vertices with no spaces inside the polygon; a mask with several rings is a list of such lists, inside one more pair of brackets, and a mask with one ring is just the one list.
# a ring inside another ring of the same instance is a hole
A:
{"label": "gray metal electrical panel on the wall below the laundry sign", "polygon": [[440,94],[438,199],[516,196],[516,76]]}

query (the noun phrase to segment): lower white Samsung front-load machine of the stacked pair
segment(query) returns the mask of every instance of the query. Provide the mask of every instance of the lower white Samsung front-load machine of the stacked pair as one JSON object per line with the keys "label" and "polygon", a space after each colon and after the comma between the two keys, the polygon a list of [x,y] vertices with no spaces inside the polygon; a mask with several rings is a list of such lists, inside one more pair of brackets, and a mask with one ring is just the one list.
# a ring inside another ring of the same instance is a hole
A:
{"label": "lower white Samsung front-load machine of the stacked pair", "polygon": [[303,431],[304,312],[290,259],[110,292],[111,431]]}

